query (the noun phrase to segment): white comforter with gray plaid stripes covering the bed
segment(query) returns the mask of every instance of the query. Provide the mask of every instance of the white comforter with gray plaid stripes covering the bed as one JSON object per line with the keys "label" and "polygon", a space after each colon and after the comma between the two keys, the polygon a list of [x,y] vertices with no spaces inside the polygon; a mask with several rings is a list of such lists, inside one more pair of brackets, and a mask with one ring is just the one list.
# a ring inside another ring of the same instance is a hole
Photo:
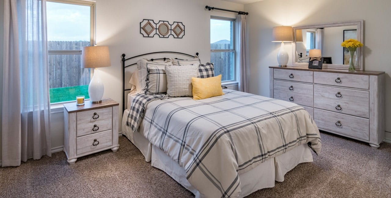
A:
{"label": "white comforter with gray plaid stripes covering the bed", "polygon": [[143,120],[147,139],[183,167],[204,197],[238,197],[239,174],[300,144],[321,150],[303,107],[229,89],[225,95],[154,100]]}

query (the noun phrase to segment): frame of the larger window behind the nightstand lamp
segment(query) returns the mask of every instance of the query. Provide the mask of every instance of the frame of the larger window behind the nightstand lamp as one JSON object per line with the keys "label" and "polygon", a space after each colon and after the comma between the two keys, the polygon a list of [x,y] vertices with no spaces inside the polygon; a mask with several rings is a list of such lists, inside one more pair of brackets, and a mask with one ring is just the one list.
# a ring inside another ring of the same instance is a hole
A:
{"label": "frame of the larger window behind the nightstand lamp", "polygon": [[[61,4],[73,4],[73,5],[84,5],[90,6],[90,46],[95,44],[95,2],[86,1],[86,0],[47,0],[47,2],[55,2]],[[48,50],[48,55],[81,55],[82,50]],[[90,80],[93,77],[93,71],[91,71]],[[86,99],[90,100],[90,99]],[[75,102],[76,100],[64,101],[64,102],[54,102],[50,103],[51,109],[59,108],[59,104]],[[61,105],[62,106],[62,105]]]}

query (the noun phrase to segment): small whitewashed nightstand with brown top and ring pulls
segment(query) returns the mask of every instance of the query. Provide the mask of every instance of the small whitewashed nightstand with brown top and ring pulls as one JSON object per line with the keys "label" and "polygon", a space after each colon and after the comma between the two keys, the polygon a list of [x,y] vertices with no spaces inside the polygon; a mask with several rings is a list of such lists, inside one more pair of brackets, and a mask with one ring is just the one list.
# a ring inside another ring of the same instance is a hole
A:
{"label": "small whitewashed nightstand with brown top and ring pulls", "polygon": [[64,104],[64,151],[69,164],[103,150],[116,152],[118,147],[117,102],[106,98],[97,104]]}

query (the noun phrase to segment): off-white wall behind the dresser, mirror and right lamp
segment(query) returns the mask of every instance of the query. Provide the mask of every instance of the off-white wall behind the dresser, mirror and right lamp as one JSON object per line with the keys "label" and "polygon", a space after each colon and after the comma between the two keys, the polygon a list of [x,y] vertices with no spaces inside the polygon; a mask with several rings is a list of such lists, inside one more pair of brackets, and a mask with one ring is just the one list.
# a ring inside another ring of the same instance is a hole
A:
{"label": "off-white wall behind the dresser, mirror and right lamp", "polygon": [[[250,92],[269,96],[269,66],[276,66],[279,43],[272,43],[272,28],[364,20],[364,68],[386,71],[386,137],[391,139],[390,0],[264,0],[244,6],[249,12]],[[349,8],[349,9],[347,9]],[[292,46],[285,48],[292,65]]]}

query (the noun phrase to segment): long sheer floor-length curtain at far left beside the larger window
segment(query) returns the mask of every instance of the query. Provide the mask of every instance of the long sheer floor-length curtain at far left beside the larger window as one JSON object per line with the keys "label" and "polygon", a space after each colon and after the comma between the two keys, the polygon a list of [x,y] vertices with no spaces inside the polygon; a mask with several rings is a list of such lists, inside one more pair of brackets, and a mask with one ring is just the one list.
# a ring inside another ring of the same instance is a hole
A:
{"label": "long sheer floor-length curtain at far left beside the larger window", "polygon": [[2,166],[50,156],[46,0],[5,0]]}

